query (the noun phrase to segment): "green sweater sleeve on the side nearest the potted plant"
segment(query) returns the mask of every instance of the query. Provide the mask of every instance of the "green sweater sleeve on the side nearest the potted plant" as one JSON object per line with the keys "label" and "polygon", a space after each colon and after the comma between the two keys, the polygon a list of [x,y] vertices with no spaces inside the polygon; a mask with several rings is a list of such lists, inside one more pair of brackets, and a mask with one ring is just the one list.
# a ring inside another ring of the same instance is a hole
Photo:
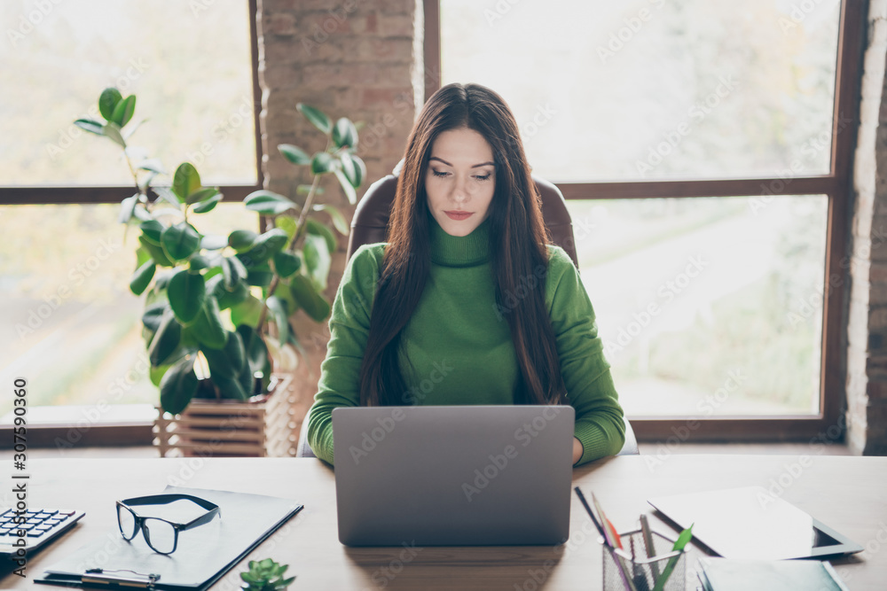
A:
{"label": "green sweater sleeve on the side nearest the potted plant", "polygon": [[357,249],[345,268],[330,316],[330,341],[320,365],[318,393],[308,411],[308,444],[333,463],[333,409],[360,404],[360,365],[370,330],[382,245]]}

